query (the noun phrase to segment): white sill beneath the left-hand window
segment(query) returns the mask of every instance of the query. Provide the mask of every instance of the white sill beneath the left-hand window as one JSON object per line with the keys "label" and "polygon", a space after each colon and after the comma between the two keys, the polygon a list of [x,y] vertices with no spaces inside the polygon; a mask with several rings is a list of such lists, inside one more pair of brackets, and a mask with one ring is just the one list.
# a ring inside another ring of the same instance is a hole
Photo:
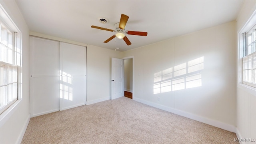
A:
{"label": "white sill beneath the left-hand window", "polygon": [[14,104],[12,104],[12,106],[10,106],[9,108],[7,108],[1,115],[0,115],[0,127],[3,126],[5,124],[5,122],[7,120],[9,120],[9,118],[12,116],[12,114],[18,109],[19,105],[20,105],[21,100],[17,100],[16,102],[14,102]]}

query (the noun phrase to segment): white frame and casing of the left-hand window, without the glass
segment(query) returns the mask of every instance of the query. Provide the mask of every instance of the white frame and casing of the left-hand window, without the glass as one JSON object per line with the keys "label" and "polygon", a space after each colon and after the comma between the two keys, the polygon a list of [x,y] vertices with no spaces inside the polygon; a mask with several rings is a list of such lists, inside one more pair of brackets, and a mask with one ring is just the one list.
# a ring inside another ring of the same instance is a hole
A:
{"label": "white frame and casing of the left-hand window, without the glass", "polygon": [[[20,30],[12,21],[12,19],[4,10],[1,4],[0,4],[0,23],[3,24],[4,27],[6,27],[8,31],[12,33],[12,62],[0,60],[1,61],[0,65],[2,65],[5,69],[8,67],[12,69],[16,69],[14,70],[16,74],[15,75],[12,74],[15,80],[12,82],[10,82],[10,80],[5,81],[5,83],[2,84],[2,87],[4,86],[8,87],[8,85],[13,85],[13,84],[16,84],[16,87],[17,87],[13,91],[15,96],[10,97],[12,100],[6,103],[6,105],[0,107],[0,119],[2,123],[3,118],[8,113],[10,113],[13,110],[13,108],[15,108],[22,99],[22,79],[21,79],[21,76],[22,76],[22,44],[21,42],[22,40],[21,40]],[[10,74],[7,74],[6,72],[2,72],[2,76],[3,75],[8,78],[8,75]],[[5,90],[5,92],[6,91],[7,90]],[[7,98],[8,96],[5,96],[5,98]]]}

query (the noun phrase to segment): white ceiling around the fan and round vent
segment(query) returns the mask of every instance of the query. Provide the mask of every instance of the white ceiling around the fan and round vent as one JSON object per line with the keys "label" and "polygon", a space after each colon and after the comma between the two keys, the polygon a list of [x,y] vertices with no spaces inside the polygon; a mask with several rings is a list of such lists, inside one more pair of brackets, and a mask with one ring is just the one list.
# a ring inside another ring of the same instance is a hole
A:
{"label": "white ceiling around the fan and round vent", "polygon": [[[32,32],[124,51],[236,20],[243,1],[16,0],[16,3]],[[130,17],[126,30],[148,32],[148,36],[126,35],[130,46],[118,38],[103,43],[114,32],[91,26],[114,29],[121,14]],[[101,24],[100,17],[109,22]]]}

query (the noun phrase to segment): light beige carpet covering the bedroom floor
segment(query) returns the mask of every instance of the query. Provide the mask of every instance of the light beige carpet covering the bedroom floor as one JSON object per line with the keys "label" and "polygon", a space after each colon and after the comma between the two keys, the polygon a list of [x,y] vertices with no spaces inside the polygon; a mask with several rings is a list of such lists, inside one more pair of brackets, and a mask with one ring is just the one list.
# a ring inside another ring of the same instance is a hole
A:
{"label": "light beige carpet covering the bedroom floor", "polygon": [[30,119],[22,144],[232,144],[236,134],[121,97]]}

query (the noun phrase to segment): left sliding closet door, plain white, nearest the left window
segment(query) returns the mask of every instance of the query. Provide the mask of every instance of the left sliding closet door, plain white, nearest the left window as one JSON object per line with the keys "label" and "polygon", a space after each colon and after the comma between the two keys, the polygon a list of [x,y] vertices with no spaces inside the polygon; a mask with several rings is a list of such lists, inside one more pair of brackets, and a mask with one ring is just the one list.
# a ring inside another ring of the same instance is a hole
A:
{"label": "left sliding closet door, plain white, nearest the left window", "polygon": [[60,42],[30,36],[31,117],[60,110]]}

